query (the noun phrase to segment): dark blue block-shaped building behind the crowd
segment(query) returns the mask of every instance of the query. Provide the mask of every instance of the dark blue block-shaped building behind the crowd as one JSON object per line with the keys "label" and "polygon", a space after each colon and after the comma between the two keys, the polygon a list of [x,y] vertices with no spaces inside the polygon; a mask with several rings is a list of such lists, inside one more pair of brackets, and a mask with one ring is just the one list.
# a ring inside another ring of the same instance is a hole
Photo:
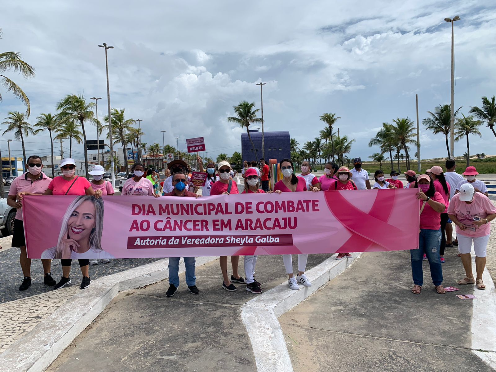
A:
{"label": "dark blue block-shaped building behind the crowd", "polygon": [[256,154],[253,153],[253,146],[248,139],[248,133],[241,134],[241,154],[243,160],[259,161],[265,158],[268,162],[270,159],[277,159],[280,162],[282,159],[291,159],[291,145],[289,131],[283,130],[278,132],[264,132],[265,156],[262,154],[262,132],[258,129],[250,129],[249,134],[253,144],[255,145]]}

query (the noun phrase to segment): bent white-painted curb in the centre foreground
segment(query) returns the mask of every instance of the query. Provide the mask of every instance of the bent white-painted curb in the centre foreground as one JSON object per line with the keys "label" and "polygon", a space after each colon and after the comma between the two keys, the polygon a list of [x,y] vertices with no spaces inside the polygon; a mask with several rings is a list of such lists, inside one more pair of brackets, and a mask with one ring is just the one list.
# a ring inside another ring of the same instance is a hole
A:
{"label": "bent white-painted curb in the centre foreground", "polygon": [[311,287],[298,291],[288,288],[287,281],[248,301],[241,307],[245,325],[255,356],[257,372],[292,372],[293,366],[279,316],[291,310],[321,286],[341,274],[362,253],[337,261],[335,255],[306,272]]}

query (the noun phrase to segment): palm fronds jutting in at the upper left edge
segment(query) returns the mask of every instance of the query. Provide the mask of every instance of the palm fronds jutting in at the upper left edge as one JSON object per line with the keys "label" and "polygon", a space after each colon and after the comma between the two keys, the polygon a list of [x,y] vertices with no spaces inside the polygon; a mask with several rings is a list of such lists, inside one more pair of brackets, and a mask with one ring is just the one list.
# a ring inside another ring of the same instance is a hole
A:
{"label": "palm fronds jutting in at the upper left edge", "polygon": [[[2,31],[0,28],[0,39],[2,36]],[[7,76],[2,73],[5,71],[19,72],[24,78],[28,79],[34,77],[34,68],[22,61],[21,55],[17,52],[3,52],[0,53],[0,84],[7,89],[7,92],[12,92],[12,94],[20,99],[26,106],[26,119],[29,118],[31,114],[31,107],[29,105],[29,98],[22,91],[22,89],[10,80]],[[2,101],[2,96],[0,93],[0,102]]]}

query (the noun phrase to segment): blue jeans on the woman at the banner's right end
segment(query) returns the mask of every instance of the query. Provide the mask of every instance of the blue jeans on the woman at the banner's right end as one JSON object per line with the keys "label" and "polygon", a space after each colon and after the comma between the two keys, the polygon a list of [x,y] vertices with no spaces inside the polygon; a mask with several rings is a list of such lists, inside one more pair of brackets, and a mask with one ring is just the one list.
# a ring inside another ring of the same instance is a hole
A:
{"label": "blue jeans on the woman at the banner's right end", "polygon": [[424,253],[427,255],[429,265],[431,266],[431,277],[434,286],[442,283],[441,259],[439,248],[441,247],[441,229],[429,230],[420,229],[419,248],[410,250],[412,256],[412,276],[413,283],[422,287],[424,284],[424,273],[422,271],[422,258]]}

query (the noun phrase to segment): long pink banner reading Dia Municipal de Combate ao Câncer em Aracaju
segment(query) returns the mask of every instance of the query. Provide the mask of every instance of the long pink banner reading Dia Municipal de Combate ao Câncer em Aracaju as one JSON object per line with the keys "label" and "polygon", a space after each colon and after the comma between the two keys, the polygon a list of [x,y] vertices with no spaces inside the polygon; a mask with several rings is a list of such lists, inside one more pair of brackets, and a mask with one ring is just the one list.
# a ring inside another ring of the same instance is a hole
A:
{"label": "long pink banner reading Dia Municipal de Combate ao C\u00e2ncer em Aracaju", "polygon": [[30,258],[134,258],[415,249],[416,189],[189,198],[27,196]]}

